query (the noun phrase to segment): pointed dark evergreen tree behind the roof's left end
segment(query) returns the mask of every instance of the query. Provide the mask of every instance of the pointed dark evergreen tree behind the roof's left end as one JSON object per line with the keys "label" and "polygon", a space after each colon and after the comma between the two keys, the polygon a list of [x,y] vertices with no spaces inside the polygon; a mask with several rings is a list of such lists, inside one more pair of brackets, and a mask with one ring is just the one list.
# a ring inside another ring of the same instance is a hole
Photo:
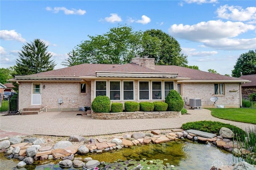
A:
{"label": "pointed dark evergreen tree behind the roof's left end", "polygon": [[28,75],[53,70],[56,64],[50,60],[52,54],[47,52],[47,48],[48,46],[40,39],[22,46],[19,59],[14,66],[16,74]]}

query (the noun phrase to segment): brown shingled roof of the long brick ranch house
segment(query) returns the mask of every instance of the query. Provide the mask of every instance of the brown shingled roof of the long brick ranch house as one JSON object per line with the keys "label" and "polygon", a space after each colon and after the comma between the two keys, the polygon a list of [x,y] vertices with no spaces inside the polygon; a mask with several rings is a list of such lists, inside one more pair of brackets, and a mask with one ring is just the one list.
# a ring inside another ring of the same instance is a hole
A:
{"label": "brown shingled roof of the long brick ranch house", "polygon": [[242,78],[180,66],[155,65],[155,69],[150,69],[137,64],[80,64],[37,74],[15,76],[10,81],[80,81],[86,77],[175,78],[179,82],[250,82]]}

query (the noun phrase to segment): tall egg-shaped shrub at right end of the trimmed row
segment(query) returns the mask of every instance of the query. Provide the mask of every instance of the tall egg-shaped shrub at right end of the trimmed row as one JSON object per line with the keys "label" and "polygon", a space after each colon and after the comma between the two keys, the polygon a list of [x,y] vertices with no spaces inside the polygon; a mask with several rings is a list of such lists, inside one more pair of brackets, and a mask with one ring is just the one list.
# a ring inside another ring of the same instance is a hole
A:
{"label": "tall egg-shaped shrub at right end of the trimmed row", "polygon": [[176,90],[170,90],[165,102],[168,104],[168,111],[180,112],[184,106],[184,101]]}

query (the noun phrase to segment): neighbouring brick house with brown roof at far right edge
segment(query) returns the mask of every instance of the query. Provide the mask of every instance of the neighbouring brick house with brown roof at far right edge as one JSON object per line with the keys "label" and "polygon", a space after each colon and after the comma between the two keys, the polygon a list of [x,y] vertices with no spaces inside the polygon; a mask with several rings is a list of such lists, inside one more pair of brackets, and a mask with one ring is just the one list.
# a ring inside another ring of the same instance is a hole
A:
{"label": "neighbouring brick house with brown roof at far right edge", "polygon": [[242,84],[242,96],[256,93],[256,74],[240,76],[239,78],[250,80],[251,82]]}

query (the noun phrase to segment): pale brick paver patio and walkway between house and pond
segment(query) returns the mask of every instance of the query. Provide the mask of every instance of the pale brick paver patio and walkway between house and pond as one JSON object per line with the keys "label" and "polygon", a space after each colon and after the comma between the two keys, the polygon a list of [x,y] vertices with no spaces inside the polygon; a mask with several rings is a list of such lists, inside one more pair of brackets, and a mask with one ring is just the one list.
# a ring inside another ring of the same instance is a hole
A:
{"label": "pale brick paver patio and walkway between house and pond", "polygon": [[[96,120],[77,116],[82,112],[43,112],[38,115],[0,116],[0,138],[21,134],[94,136],[121,132],[180,128],[186,122],[211,120],[233,124],[244,130],[255,125],[214,118],[210,110],[188,109],[180,118]],[[9,132],[8,132],[9,131]],[[17,134],[18,133],[18,134]]]}

